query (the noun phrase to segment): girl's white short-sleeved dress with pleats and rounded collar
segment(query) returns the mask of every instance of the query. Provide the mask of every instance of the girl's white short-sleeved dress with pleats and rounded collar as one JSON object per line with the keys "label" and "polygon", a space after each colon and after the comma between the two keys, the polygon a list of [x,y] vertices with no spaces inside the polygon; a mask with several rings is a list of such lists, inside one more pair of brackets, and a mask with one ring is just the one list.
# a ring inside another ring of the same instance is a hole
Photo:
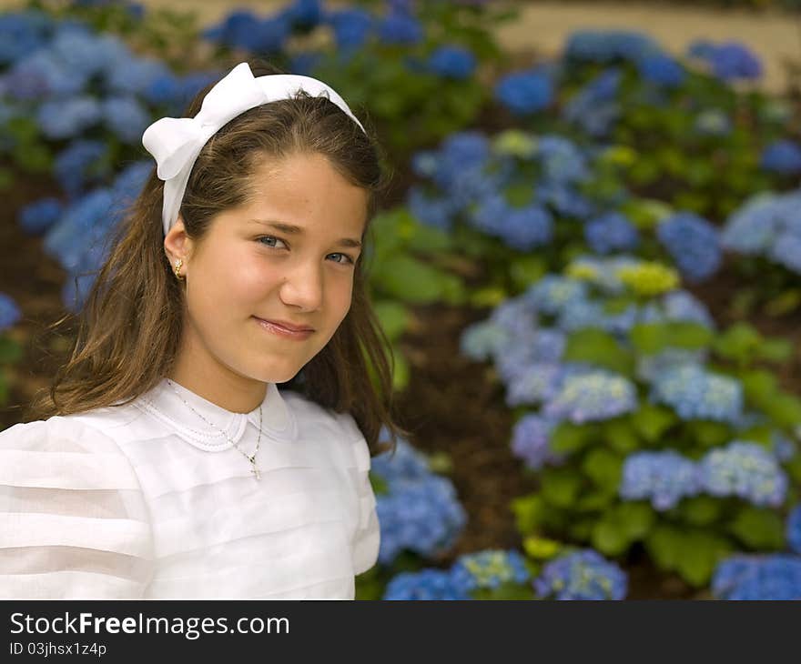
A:
{"label": "girl's white short-sleeved dress with pleats and rounded collar", "polygon": [[[380,545],[354,419],[270,383],[232,413],[163,379],[0,433],[0,599],[353,599]],[[181,401],[217,428],[211,428]]]}

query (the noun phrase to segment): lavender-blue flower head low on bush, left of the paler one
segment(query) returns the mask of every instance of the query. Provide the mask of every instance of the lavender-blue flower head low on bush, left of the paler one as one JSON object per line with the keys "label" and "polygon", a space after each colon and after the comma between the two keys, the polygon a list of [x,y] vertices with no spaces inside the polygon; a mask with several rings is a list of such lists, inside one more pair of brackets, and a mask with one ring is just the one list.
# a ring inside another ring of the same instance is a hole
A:
{"label": "lavender-blue flower head low on bush, left of the paler one", "polygon": [[658,511],[674,508],[701,490],[698,469],[688,458],[667,450],[636,452],[624,461],[618,493],[624,500],[650,500]]}

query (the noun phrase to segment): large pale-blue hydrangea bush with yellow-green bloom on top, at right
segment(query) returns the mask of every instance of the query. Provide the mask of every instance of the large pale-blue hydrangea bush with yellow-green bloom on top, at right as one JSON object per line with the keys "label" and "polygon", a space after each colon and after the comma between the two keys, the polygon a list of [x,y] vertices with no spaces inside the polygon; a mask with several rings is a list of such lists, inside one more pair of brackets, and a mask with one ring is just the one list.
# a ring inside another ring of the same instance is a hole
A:
{"label": "large pale-blue hydrangea bush with yellow-green bloom on top, at right", "polygon": [[716,330],[671,268],[577,257],[468,327],[461,351],[492,362],[512,451],[540,480],[515,501],[523,534],[608,556],[642,543],[695,586],[735,548],[782,547],[801,401],[765,363],[791,348]]}

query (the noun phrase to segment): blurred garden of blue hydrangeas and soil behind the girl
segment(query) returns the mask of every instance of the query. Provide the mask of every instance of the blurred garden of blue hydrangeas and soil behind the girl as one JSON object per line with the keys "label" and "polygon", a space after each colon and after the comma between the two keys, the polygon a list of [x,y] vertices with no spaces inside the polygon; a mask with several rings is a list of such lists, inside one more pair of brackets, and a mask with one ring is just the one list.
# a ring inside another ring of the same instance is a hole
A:
{"label": "blurred garden of blue hydrangeas and soil behind the girl", "polygon": [[799,9],[0,0],[0,429],[144,129],[258,55],[393,173],[370,291],[413,435],[357,598],[801,599]]}

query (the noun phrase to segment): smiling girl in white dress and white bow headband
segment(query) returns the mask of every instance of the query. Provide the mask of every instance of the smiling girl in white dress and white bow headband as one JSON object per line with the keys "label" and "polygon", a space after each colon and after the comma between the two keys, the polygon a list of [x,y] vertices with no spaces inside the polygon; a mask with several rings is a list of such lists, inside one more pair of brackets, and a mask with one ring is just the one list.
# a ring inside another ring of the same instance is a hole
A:
{"label": "smiling girl in white dress and white bow headband", "polygon": [[185,115],[147,128],[71,357],[0,434],[0,598],[353,599],[376,562],[370,449],[406,433],[363,268],[378,147],[263,63]]}

